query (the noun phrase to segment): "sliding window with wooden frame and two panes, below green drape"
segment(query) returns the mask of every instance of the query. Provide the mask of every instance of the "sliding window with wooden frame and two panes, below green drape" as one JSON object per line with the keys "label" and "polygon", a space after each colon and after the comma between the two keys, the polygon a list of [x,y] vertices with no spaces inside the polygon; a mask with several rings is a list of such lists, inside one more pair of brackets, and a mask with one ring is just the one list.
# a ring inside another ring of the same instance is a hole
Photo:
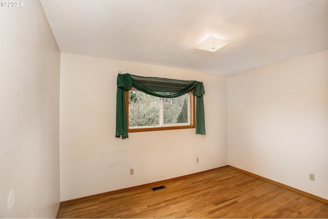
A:
{"label": "sliding window with wooden frame and two panes, below green drape", "polygon": [[195,96],[156,97],[126,91],[128,132],[195,128]]}

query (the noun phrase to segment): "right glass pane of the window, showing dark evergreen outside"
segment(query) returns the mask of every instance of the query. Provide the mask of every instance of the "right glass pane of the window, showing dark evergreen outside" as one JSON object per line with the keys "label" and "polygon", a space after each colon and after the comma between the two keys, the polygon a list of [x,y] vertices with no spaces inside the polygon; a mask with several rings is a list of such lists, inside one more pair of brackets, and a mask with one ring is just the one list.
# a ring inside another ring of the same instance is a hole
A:
{"label": "right glass pane of the window, showing dark evergreen outside", "polygon": [[163,123],[188,123],[188,94],[163,98]]}

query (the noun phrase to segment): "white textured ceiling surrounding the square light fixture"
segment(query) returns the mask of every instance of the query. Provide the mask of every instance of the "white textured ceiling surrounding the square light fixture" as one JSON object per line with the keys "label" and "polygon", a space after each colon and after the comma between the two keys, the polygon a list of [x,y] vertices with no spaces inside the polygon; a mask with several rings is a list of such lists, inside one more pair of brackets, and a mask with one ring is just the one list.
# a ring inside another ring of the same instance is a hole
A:
{"label": "white textured ceiling surrounding the square light fixture", "polygon": [[229,75],[328,49],[327,0],[40,2],[64,53]]}

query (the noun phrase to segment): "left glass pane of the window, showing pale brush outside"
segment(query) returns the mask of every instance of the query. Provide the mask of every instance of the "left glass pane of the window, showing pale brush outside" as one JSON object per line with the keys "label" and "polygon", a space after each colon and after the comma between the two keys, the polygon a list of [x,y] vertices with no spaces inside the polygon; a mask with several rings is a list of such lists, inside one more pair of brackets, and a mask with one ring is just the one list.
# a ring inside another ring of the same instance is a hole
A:
{"label": "left glass pane of the window, showing pale brush outside", "polygon": [[159,97],[129,91],[129,127],[159,126]]}

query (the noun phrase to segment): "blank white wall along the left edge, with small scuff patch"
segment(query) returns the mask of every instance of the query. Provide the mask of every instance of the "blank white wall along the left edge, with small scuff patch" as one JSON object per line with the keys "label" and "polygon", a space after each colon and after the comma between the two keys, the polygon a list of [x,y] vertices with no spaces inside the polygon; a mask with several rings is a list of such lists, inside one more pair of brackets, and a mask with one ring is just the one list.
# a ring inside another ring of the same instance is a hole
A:
{"label": "blank white wall along the left edge, with small scuff patch", "polygon": [[55,217],[60,52],[39,1],[23,4],[0,7],[0,217]]}

